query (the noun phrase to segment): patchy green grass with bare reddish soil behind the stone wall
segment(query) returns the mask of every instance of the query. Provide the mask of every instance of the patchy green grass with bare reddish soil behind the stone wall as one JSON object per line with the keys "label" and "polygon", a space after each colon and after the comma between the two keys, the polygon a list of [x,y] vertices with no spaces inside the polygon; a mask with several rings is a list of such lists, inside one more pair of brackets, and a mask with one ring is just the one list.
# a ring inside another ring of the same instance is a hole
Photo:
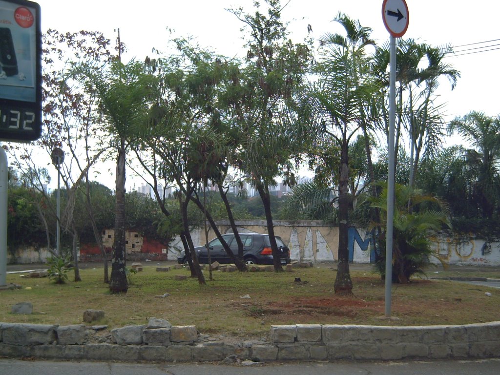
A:
{"label": "patchy green grass with bare reddish soil behind the stone wall", "polygon": [[[352,271],[354,295],[340,297],[333,293],[335,271],[327,267],[296,268],[291,273],[214,271],[212,281],[205,271],[207,285],[199,285],[193,278],[174,279],[176,274],[189,275],[185,269],[156,272],[155,267],[145,266],[143,272],[132,274],[126,294],[109,293],[102,269],[82,269],[80,274],[83,281],[62,285],[48,278],[8,274],[7,282],[22,288],[0,291],[0,321],[76,324],[82,322],[85,309],[93,308],[105,311],[98,323],[109,328],[158,317],[172,324],[196,325],[203,333],[255,337],[266,335],[271,324],[428,325],[500,320],[500,290],[416,278],[392,288],[392,315],[400,320],[381,320],[384,283],[378,275]],[[295,277],[302,283],[294,282]],[[492,296],[485,296],[486,291]],[[169,296],[157,297],[164,293]],[[246,294],[250,298],[242,298]],[[33,314],[10,313],[11,306],[21,301],[33,303]]]}

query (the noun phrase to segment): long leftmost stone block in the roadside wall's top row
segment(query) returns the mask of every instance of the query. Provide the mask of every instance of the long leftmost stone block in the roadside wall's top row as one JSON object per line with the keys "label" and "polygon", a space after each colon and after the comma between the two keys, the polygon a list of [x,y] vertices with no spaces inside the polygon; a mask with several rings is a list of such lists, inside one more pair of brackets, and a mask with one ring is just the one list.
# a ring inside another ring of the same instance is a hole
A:
{"label": "long leftmost stone block in the roadside wall's top row", "polygon": [[2,323],[2,342],[12,345],[51,344],[55,340],[57,325]]}

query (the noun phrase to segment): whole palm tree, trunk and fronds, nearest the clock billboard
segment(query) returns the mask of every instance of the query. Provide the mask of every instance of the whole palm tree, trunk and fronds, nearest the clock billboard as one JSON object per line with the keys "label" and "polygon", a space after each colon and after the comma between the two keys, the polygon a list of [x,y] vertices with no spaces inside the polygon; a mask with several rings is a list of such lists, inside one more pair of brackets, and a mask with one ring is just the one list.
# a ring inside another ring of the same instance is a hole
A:
{"label": "whole palm tree, trunk and fronds, nearest the clock billboard", "polygon": [[150,74],[136,61],[123,64],[119,60],[100,66],[89,63],[75,65],[72,75],[84,89],[98,100],[102,130],[110,135],[116,150],[115,222],[109,290],[113,293],[128,289],[125,273],[125,159],[128,144],[140,124],[147,121],[149,94],[152,89]]}

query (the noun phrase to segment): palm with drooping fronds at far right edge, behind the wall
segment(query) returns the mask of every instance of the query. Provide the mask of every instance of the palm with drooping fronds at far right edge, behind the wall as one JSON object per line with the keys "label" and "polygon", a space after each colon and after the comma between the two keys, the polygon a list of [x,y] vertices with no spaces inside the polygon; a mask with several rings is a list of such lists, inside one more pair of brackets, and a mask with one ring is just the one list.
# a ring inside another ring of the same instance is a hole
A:
{"label": "palm with drooping fronds at far right edge, behind the wall", "polygon": [[491,217],[500,194],[500,116],[492,118],[471,111],[449,123],[448,132],[454,131],[472,147],[465,150],[463,162],[476,170],[474,195],[482,214]]}

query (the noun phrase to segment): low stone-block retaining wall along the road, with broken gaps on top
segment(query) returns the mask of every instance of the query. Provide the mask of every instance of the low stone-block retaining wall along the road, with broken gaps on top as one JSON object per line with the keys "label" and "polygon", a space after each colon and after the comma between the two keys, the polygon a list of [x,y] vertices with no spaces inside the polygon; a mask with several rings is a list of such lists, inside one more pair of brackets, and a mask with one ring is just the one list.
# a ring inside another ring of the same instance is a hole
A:
{"label": "low stone-block retaining wall along the road, with broken gaps on top", "polygon": [[273,325],[270,341],[202,342],[193,325],[111,330],[88,341],[88,327],[0,323],[0,356],[120,361],[389,360],[500,357],[500,321],[449,326]]}

